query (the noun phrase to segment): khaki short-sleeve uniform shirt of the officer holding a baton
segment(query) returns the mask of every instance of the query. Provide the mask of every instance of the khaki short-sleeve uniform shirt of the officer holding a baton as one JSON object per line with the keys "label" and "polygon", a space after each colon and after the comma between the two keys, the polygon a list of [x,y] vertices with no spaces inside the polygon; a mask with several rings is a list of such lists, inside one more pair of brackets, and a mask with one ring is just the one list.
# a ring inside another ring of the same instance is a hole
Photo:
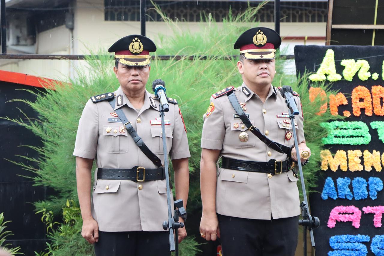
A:
{"label": "khaki short-sleeve uniform shirt of the officer holding a baton", "polygon": [[[253,126],[275,142],[293,145],[293,136],[287,135],[288,132],[292,134],[288,107],[277,88],[270,87],[264,103],[245,83],[235,88],[234,93]],[[294,98],[301,110],[299,97]],[[221,156],[232,159],[259,162],[286,160],[286,154],[271,149],[247,130],[235,115],[227,95],[216,99],[211,97],[210,102],[213,107],[204,114],[202,148],[221,150]],[[301,113],[295,117],[295,122],[300,143],[304,141]],[[241,132],[248,134],[247,141],[239,139]],[[259,220],[300,215],[297,180],[293,171],[268,178],[267,173],[218,168],[216,211],[221,215]]]}

